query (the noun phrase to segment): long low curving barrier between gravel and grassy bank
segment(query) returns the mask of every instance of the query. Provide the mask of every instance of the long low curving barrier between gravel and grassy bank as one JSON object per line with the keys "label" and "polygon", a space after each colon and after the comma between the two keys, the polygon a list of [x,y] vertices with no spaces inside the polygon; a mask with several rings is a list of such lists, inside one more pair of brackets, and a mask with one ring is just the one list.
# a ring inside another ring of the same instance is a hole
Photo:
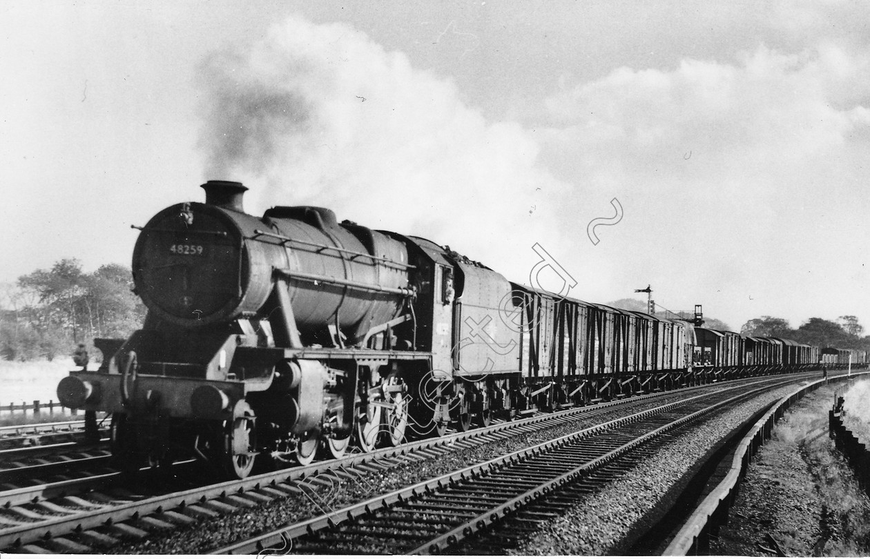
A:
{"label": "long low curving barrier between gravel and grassy bank", "polygon": [[[870,373],[853,372],[849,378],[867,378],[866,375],[870,375]],[[842,377],[839,378],[842,379]],[[825,385],[827,381],[828,379],[822,379],[793,391],[788,396],[783,397],[778,403],[775,403],[773,409],[753,425],[753,428],[749,430],[737,446],[731,469],[722,481],[719,482],[719,485],[706,496],[698,508],[689,516],[686,523],[683,524],[683,527],[679,529],[677,535],[674,536],[667,549],[662,553],[663,556],[703,555],[709,549],[710,536],[718,536],[719,527],[728,522],[728,512],[737,498],[740,482],[746,477],[746,469],[749,469],[749,464],[752,463],[758,449],[772,436],[775,423],[785,415],[786,409],[793,403],[800,400],[807,393]],[[864,445],[861,446],[863,447]],[[870,465],[870,463],[866,464]]]}

